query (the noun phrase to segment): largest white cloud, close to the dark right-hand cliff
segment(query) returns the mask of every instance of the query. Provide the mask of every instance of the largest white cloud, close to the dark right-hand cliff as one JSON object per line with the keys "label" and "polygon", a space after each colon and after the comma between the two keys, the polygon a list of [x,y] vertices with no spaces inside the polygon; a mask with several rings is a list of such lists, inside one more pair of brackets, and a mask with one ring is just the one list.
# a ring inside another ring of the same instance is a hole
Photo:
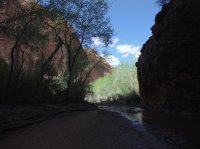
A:
{"label": "largest white cloud, close to the dark right-hand cliff", "polygon": [[136,55],[140,51],[141,47],[129,44],[123,44],[123,45],[118,45],[116,49],[119,53],[123,54],[123,57],[125,57],[129,54]]}

